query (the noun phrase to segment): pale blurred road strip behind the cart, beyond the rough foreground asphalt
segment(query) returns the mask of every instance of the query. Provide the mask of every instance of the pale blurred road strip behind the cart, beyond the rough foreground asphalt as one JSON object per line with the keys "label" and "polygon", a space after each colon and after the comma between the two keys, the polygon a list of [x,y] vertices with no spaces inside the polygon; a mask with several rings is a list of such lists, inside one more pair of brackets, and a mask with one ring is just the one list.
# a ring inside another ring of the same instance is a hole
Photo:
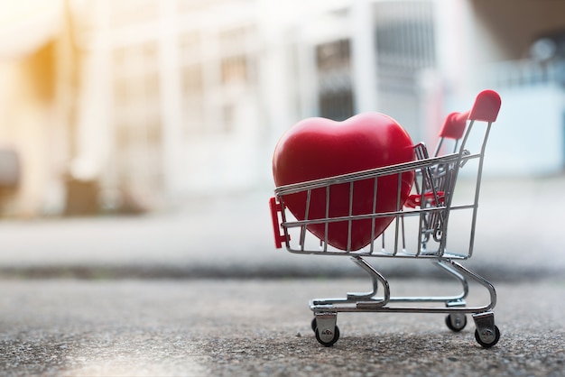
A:
{"label": "pale blurred road strip behind the cart, beyond the rough foreground asphalt", "polygon": [[[485,179],[476,246],[468,267],[491,279],[560,276],[565,271],[565,176]],[[273,246],[271,191],[200,198],[170,211],[130,217],[4,219],[0,276],[316,277],[360,276],[347,258],[295,255]],[[468,225],[451,222],[449,238]],[[391,276],[425,277],[430,263],[374,261]]]}

